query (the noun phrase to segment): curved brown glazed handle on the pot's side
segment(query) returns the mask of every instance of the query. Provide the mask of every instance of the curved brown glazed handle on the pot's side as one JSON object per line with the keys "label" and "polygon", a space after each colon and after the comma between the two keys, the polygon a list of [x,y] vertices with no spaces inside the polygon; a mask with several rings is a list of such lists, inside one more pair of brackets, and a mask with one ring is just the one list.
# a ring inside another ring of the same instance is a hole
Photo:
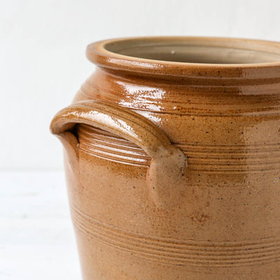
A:
{"label": "curved brown glazed handle on the pot's side", "polygon": [[[59,111],[50,124],[50,131],[78,162],[78,139],[71,133],[77,123],[92,125],[123,137],[142,148],[150,157],[146,175],[148,193],[157,207],[171,207],[178,202],[176,186],[186,168],[186,156],[173,146],[166,134],[151,120],[111,102],[85,100]],[[177,198],[176,198],[177,197]]]}

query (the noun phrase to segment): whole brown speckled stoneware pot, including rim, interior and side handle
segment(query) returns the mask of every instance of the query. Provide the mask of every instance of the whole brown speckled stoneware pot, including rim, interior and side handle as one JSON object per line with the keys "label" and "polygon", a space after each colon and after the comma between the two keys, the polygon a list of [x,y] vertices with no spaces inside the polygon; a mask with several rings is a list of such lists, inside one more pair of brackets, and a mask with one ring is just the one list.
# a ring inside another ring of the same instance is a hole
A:
{"label": "whole brown speckled stoneware pot, including rim, interior and side handle", "polygon": [[51,131],[84,280],[279,280],[280,43],[125,38]]}

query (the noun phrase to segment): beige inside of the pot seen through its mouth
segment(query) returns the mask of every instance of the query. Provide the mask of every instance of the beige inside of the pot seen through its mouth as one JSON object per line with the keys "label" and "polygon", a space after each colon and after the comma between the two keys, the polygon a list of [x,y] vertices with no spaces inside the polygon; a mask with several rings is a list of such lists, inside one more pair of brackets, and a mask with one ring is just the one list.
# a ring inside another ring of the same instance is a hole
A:
{"label": "beige inside of the pot seen through its mouth", "polygon": [[165,62],[199,64],[255,64],[280,62],[280,49],[264,50],[260,43],[215,40],[131,39],[104,45],[118,55]]}

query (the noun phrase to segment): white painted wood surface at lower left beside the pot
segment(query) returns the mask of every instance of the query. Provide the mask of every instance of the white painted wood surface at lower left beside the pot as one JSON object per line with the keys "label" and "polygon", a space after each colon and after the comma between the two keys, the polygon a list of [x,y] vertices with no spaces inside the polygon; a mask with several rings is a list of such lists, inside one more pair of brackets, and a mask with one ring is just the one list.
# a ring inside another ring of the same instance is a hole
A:
{"label": "white painted wood surface at lower left beside the pot", "polygon": [[0,173],[0,279],[81,279],[63,172]]}

